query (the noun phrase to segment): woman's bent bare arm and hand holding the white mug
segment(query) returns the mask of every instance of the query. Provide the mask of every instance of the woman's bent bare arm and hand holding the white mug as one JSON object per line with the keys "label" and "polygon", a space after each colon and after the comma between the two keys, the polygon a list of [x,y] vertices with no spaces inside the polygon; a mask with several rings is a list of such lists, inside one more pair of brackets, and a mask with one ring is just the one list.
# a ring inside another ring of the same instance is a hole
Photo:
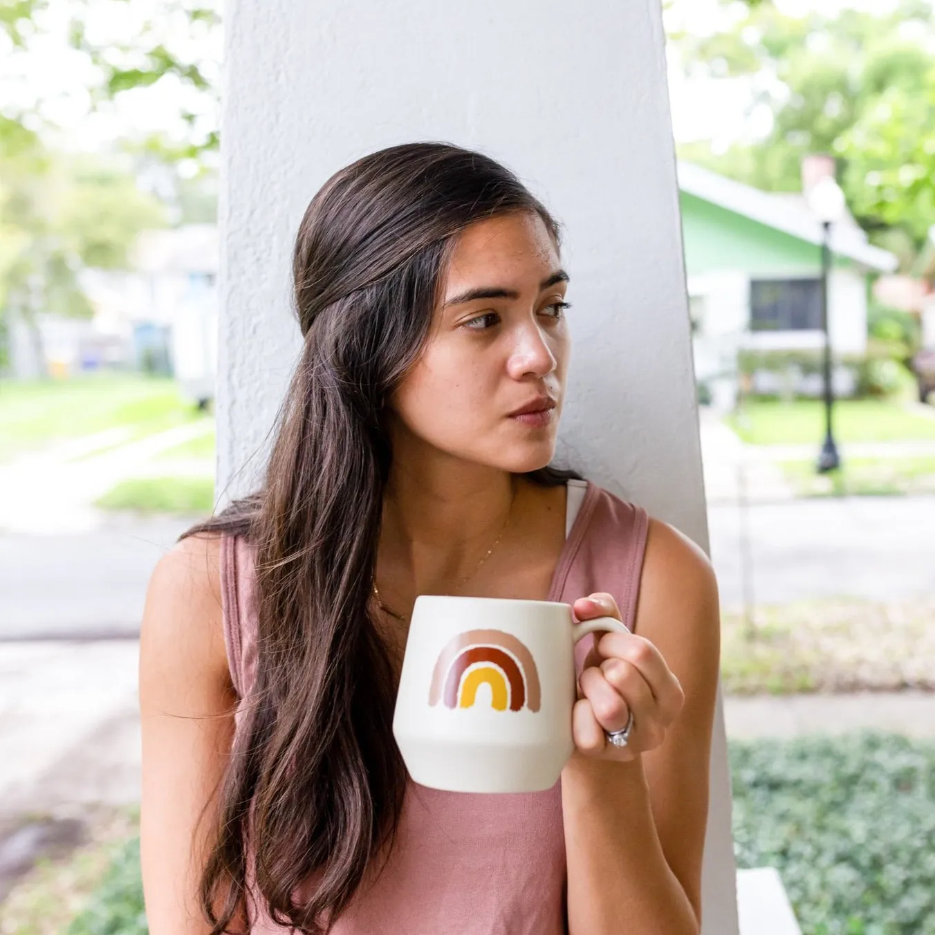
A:
{"label": "woman's bent bare arm and hand holding the white mug", "polygon": [[[576,602],[580,618],[619,617],[610,595],[592,597],[597,604]],[[599,668],[582,673],[579,751],[562,773],[570,935],[700,930],[720,657],[717,584],[698,547],[657,521],[650,523],[634,630],[602,637],[589,660]],[[626,724],[626,699],[633,734],[617,751],[605,744],[603,726]]]}

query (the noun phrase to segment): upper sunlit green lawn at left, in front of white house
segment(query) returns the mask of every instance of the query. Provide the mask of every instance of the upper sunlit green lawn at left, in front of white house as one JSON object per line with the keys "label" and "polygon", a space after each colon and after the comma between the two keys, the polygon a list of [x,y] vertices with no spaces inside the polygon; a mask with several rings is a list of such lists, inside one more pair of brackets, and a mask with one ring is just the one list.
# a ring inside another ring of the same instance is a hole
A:
{"label": "upper sunlit green lawn at left, in front of white house", "polygon": [[203,418],[163,377],[0,381],[0,459],[108,428],[126,427],[137,437]]}

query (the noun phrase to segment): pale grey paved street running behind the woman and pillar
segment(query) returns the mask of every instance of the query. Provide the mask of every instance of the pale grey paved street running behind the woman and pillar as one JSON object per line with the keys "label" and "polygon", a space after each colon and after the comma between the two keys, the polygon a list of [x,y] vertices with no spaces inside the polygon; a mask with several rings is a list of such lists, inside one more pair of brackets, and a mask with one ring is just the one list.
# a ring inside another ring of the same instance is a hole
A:
{"label": "pale grey paved street running behind the woman and pillar", "polygon": [[[715,504],[709,517],[722,602],[736,608],[743,514]],[[136,633],[151,569],[187,525],[116,517],[84,533],[0,534],[0,640]],[[757,503],[746,526],[759,603],[935,593],[935,496]]]}

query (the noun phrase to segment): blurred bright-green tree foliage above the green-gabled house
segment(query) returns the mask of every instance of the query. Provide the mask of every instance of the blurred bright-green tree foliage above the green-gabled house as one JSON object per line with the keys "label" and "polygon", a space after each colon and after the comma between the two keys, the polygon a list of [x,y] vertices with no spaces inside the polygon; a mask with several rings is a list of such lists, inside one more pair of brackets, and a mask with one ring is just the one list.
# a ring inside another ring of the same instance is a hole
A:
{"label": "blurred bright-green tree foliage above the green-gabled house", "polygon": [[670,36],[689,78],[746,79],[749,111],[771,115],[765,137],[724,152],[698,141],[680,154],[758,188],[798,191],[802,156],[831,153],[871,239],[913,252],[935,221],[932,14],[930,0],[902,0],[885,16],[815,5],[796,17],[763,0],[726,30]]}

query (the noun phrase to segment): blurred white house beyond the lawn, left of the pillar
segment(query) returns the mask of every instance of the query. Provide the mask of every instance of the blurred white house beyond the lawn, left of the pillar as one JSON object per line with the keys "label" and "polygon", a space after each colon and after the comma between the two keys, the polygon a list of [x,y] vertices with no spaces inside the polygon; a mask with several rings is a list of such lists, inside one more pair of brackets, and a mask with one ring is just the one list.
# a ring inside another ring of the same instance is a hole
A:
{"label": "blurred white house beyond the lawn, left of the pillar", "polygon": [[[107,367],[174,374],[193,400],[210,398],[217,359],[217,225],[143,231],[131,265],[81,271],[92,318],[37,316],[46,369],[52,376]],[[13,375],[38,376],[39,353],[36,336],[14,322]]]}

